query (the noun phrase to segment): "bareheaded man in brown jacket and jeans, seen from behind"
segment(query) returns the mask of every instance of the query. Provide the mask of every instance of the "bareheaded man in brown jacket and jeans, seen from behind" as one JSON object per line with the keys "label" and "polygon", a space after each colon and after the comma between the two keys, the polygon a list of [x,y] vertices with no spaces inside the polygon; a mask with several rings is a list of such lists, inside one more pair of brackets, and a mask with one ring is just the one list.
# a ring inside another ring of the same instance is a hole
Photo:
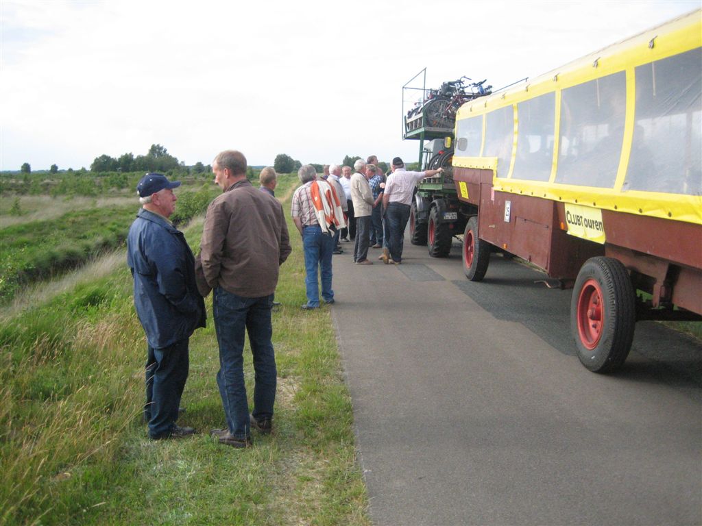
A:
{"label": "bareheaded man in brown jacket and jeans, seen from behind", "polygon": [[[227,427],[219,442],[251,445],[250,429],[270,433],[277,371],[271,344],[271,307],[278,269],[291,252],[282,205],[246,180],[246,158],[227,150],[212,163],[222,189],[207,209],[200,243],[200,292],[214,290],[213,317],[220,349],[217,384]],[[204,282],[204,283],[203,283]],[[256,382],[249,414],[244,386],[244,332],[249,333]]]}

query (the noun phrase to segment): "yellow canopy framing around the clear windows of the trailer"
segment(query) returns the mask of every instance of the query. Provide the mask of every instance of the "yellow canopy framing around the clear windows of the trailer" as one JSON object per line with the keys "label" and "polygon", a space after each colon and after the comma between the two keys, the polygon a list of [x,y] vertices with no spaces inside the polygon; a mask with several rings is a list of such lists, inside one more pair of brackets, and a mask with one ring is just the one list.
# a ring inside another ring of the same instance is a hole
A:
{"label": "yellow canopy framing around the clear windows of the trailer", "polygon": [[[512,179],[516,147],[506,177],[493,178],[494,189],[512,194],[576,203],[606,210],[661,217],[663,219],[702,224],[702,196],[663,194],[649,191],[621,191],[629,163],[635,127],[635,68],[656,60],[668,58],[702,46],[702,10],[694,11],[664,25],[654,27],[631,39],[616,43],[595,53],[571,62],[564,67],[537,77],[525,86],[519,86],[488,97],[463,104],[458,110],[458,121],[482,116],[483,138],[480,152],[485,146],[485,114],[512,105],[515,114],[515,143],[519,127],[517,104],[545,93],[555,92],[555,123],[553,164],[548,182]],[[561,92],[571,86],[599,79],[616,72],[625,72],[626,109],[623,147],[614,188],[583,187],[555,182],[559,137]],[[516,145],[515,145],[516,146]],[[497,170],[496,157],[461,157],[454,154],[453,166]]]}

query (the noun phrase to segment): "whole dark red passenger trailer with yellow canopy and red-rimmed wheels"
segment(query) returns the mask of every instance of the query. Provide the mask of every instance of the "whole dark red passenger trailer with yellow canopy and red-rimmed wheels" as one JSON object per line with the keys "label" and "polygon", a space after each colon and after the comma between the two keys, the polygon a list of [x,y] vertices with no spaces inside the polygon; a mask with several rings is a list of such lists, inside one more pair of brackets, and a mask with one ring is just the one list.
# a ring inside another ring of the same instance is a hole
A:
{"label": "whole dark red passenger trailer with yellow canopy and red-rimmed wheels", "polygon": [[635,321],[702,319],[701,21],[458,110],[466,276],[482,280],[497,247],[574,287],[571,329],[592,371],[624,362]]}

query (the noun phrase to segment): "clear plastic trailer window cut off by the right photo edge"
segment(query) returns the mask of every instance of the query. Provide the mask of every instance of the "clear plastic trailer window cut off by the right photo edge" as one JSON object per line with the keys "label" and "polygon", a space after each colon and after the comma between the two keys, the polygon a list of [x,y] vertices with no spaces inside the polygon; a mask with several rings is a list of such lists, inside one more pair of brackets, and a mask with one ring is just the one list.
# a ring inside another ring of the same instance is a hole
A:
{"label": "clear plastic trailer window cut off by the right photo edge", "polygon": [[702,49],[637,67],[626,190],[702,195]]}

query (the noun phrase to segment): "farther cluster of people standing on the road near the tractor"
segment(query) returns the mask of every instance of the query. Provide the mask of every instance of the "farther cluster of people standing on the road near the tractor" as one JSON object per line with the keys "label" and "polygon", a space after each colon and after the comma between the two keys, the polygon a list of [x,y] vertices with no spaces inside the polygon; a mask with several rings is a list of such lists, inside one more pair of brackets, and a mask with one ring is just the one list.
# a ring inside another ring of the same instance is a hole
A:
{"label": "farther cluster of people standing on the road near the tractor", "polygon": [[[373,264],[368,258],[369,248],[382,248],[378,259],[385,264],[402,264],[404,230],[414,187],[424,177],[442,171],[442,168],[408,171],[402,159],[395,157],[390,173],[385,175],[374,155],[366,161],[358,159],[353,168],[352,174],[350,166],[324,166],[321,178],[311,165],[298,170],[303,184],[293,194],[292,216],[305,249],[307,302],[302,306],[305,310],[319,308],[318,275],[322,299],[333,304],[331,259],[332,255],[343,253],[340,241],[354,242],[353,262],[357,265]],[[320,191],[320,185],[328,186],[331,191],[326,192],[326,186]],[[338,204],[336,211],[335,204]],[[329,209],[331,213],[319,213],[320,209]]]}

